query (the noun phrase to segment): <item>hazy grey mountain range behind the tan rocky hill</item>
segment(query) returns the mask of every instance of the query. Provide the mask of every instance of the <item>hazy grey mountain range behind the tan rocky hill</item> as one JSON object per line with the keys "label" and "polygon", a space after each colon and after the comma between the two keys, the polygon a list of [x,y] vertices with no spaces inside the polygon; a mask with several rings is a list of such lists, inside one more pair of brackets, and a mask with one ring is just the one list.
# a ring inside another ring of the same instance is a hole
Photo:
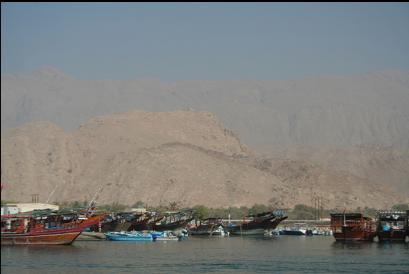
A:
{"label": "hazy grey mountain range behind the tan rocky hill", "polygon": [[54,68],[2,75],[2,129],[143,109],[214,113],[243,142],[271,154],[294,145],[409,149],[409,72],[288,81],[78,80]]}

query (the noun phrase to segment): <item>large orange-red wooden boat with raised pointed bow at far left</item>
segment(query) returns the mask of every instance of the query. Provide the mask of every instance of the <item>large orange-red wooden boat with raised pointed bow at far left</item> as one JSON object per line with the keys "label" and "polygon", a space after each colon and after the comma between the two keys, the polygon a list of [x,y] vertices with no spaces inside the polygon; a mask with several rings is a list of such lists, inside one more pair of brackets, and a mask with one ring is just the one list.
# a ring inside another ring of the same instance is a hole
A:
{"label": "large orange-red wooden boat with raised pointed bow at far left", "polygon": [[69,245],[102,215],[27,214],[1,216],[2,245]]}

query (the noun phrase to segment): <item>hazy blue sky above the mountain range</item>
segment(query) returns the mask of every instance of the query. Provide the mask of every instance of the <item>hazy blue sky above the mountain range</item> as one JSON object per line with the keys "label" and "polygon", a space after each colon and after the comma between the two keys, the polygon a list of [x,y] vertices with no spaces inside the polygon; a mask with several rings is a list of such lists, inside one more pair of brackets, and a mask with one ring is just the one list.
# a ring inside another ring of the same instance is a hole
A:
{"label": "hazy blue sky above the mountain range", "polygon": [[1,70],[288,79],[409,69],[408,3],[2,3]]}

